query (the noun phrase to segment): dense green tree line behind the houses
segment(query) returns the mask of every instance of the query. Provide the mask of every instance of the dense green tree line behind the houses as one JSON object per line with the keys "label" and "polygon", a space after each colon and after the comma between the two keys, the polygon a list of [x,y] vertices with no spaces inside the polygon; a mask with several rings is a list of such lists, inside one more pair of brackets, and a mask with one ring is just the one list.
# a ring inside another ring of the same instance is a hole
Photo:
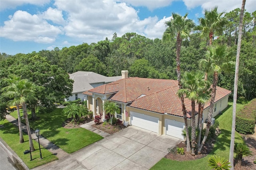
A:
{"label": "dense green tree line behind the houses", "polygon": [[[224,14],[228,21],[223,29],[213,32],[212,42],[194,30],[189,38],[182,40],[180,49],[180,71],[198,70],[198,61],[202,59],[209,43],[227,44],[232,61],[236,59],[240,9]],[[238,98],[251,100],[256,98],[256,11],[244,12],[244,26],[240,54],[238,80]],[[202,25],[202,24],[201,24]],[[106,76],[120,75],[127,69],[129,76],[177,79],[176,39],[168,43],[154,40],[136,33],[126,33],[118,37],[113,34],[111,40],[98,43],[83,43],[78,46],[54,50],[42,50],[28,54],[8,55],[0,53],[0,77],[6,78],[14,73],[37,85],[38,96],[44,106],[50,107],[52,101],[58,101],[70,95],[70,82],[65,73],[76,71],[94,71]],[[63,77],[64,76],[64,77]],[[52,79],[54,77],[54,79]],[[212,80],[212,75],[208,79]],[[64,79],[65,81],[60,81]],[[66,85],[68,84],[68,85]],[[218,86],[233,90],[234,73],[221,72]],[[1,87],[4,85],[1,84]],[[46,95],[47,94],[47,95]],[[49,97],[50,96],[50,97]],[[230,97],[231,99],[232,97]],[[3,100],[0,98],[0,100]],[[48,101],[48,102],[46,102]],[[50,101],[50,102],[49,102]]]}

